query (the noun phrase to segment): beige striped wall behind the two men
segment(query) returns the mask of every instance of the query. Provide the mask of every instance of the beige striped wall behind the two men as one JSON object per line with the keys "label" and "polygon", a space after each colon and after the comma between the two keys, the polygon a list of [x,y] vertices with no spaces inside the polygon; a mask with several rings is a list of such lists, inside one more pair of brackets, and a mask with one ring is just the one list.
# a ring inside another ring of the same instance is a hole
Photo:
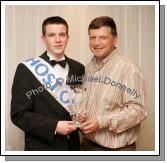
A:
{"label": "beige striped wall behind the two men", "polygon": [[41,24],[46,17],[61,16],[70,27],[66,54],[83,64],[92,57],[88,47],[87,27],[98,16],[114,18],[122,55],[141,68],[146,83],[148,118],[142,123],[138,150],[154,150],[154,6],[6,6],[6,150],[23,150],[24,134],[10,120],[11,86],[16,66],[45,47],[40,40]]}

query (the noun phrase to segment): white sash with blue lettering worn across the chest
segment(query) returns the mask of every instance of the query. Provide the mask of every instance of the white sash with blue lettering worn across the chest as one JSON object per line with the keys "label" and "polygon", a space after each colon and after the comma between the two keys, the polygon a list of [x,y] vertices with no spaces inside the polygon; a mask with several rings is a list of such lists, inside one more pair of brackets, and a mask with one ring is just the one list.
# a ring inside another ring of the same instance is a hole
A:
{"label": "white sash with blue lettering worn across the chest", "polygon": [[23,64],[34,74],[44,88],[68,111],[68,90],[66,81],[56,74],[53,67],[40,57],[26,60]]}

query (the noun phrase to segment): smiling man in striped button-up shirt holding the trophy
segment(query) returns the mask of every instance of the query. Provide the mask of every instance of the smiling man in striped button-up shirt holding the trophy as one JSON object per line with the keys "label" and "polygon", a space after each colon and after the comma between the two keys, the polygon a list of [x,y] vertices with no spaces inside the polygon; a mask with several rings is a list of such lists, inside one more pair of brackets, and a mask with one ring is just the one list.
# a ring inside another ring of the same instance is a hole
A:
{"label": "smiling man in striped button-up shirt holding the trophy", "polygon": [[142,74],[119,54],[112,18],[92,20],[88,32],[94,57],[86,66],[88,117],[81,127],[82,150],[135,150],[146,118]]}

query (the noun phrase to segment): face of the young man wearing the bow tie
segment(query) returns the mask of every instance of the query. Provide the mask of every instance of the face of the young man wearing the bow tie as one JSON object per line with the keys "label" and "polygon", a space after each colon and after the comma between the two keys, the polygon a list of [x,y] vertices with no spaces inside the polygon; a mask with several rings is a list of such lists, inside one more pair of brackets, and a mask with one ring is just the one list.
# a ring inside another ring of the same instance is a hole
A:
{"label": "face of the young man wearing the bow tie", "polygon": [[63,56],[69,38],[66,26],[63,24],[48,24],[45,28],[45,36],[42,36],[42,39],[46,44],[47,51],[57,57]]}

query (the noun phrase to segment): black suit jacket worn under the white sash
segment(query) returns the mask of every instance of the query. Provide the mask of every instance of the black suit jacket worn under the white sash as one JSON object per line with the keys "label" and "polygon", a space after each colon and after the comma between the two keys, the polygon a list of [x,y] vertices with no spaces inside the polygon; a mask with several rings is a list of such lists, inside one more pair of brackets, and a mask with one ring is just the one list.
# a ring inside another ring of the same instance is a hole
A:
{"label": "black suit jacket worn under the white sash", "polygon": [[[46,52],[40,57],[49,63]],[[85,68],[82,64],[68,57],[66,60],[69,64],[68,77],[75,75],[80,78],[84,75]],[[67,81],[67,84],[78,83]],[[55,134],[58,121],[71,120],[63,106],[46,90],[30,96],[30,99],[27,97],[26,92],[41,86],[24,64],[18,65],[12,86],[11,120],[25,131],[25,150],[79,150],[78,131],[74,131],[69,136]]]}

